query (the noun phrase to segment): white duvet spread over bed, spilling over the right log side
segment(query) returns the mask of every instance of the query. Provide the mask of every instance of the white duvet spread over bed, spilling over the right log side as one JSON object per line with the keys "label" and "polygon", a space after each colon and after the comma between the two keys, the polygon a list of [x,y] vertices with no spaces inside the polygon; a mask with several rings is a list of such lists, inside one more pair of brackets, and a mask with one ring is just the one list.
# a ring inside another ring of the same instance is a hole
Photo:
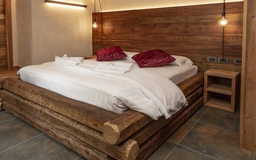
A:
{"label": "white duvet spread over bed, spilling over the right log side", "polygon": [[[169,80],[175,76],[165,73],[167,68],[179,70],[178,66],[162,67],[164,74],[153,71],[161,67],[139,68],[137,64],[125,74],[95,71],[96,67],[96,60],[84,60],[79,65],[52,66],[49,62],[21,68],[18,73],[22,81],[119,114],[130,108],[157,120],[160,116],[169,118],[187,105],[180,88]],[[187,68],[186,76],[196,74],[197,68],[192,68],[196,67]]]}

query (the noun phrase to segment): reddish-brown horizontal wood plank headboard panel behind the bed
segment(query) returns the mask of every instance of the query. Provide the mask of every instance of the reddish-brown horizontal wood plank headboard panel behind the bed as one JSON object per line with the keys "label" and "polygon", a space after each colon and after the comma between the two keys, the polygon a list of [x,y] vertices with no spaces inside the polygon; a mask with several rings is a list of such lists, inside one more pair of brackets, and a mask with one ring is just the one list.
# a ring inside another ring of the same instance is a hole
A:
{"label": "reddish-brown horizontal wood plank headboard panel behind the bed", "polygon": [[[199,71],[241,72],[234,59],[242,59],[243,1],[226,3],[224,58],[228,64],[207,62],[207,57],[222,57],[221,12],[223,3],[103,12],[101,46],[120,46],[130,52],[161,49],[190,58]],[[93,51],[100,48],[100,13],[96,19],[99,27],[92,29]]]}

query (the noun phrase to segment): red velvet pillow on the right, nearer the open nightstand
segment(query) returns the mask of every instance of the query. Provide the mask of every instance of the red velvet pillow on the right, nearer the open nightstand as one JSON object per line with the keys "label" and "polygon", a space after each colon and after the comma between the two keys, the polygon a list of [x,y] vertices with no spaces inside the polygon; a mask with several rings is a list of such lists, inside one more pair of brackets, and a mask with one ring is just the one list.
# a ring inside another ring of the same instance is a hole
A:
{"label": "red velvet pillow on the right, nearer the open nightstand", "polygon": [[141,52],[134,55],[132,59],[135,60],[140,68],[163,66],[176,60],[171,55],[165,53],[162,50]]}

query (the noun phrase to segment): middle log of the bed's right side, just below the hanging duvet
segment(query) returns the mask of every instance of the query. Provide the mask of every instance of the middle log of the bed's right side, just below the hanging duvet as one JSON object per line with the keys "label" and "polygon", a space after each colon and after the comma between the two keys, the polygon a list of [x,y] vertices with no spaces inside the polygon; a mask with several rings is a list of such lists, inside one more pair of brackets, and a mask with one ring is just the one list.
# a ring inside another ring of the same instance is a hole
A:
{"label": "middle log of the bed's right side, just below the hanging duvet", "polygon": [[183,106],[179,112],[172,115],[169,119],[165,119],[164,117],[160,117],[158,120],[153,120],[149,124],[145,125],[143,128],[141,128],[138,132],[134,133],[130,138],[133,140],[136,140],[139,144],[139,146],[144,143],[148,138],[150,138],[152,135],[154,135],[157,131],[159,131],[161,128],[163,128],[166,124],[168,124],[170,121],[172,121],[174,118],[176,118],[184,109],[186,108],[192,108],[194,107],[194,102],[198,97],[203,95],[203,85],[198,87],[195,92],[190,93],[187,96],[188,100],[188,107]]}

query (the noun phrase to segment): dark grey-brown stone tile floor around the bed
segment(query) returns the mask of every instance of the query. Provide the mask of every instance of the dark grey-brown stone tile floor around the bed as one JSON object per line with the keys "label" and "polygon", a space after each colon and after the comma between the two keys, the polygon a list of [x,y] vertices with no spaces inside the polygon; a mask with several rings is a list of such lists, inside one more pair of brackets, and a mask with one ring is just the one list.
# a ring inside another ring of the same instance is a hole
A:
{"label": "dark grey-brown stone tile floor around the bed", "polygon": [[[239,113],[202,106],[148,160],[256,160],[239,148]],[[0,111],[0,160],[84,160],[79,154]]]}

